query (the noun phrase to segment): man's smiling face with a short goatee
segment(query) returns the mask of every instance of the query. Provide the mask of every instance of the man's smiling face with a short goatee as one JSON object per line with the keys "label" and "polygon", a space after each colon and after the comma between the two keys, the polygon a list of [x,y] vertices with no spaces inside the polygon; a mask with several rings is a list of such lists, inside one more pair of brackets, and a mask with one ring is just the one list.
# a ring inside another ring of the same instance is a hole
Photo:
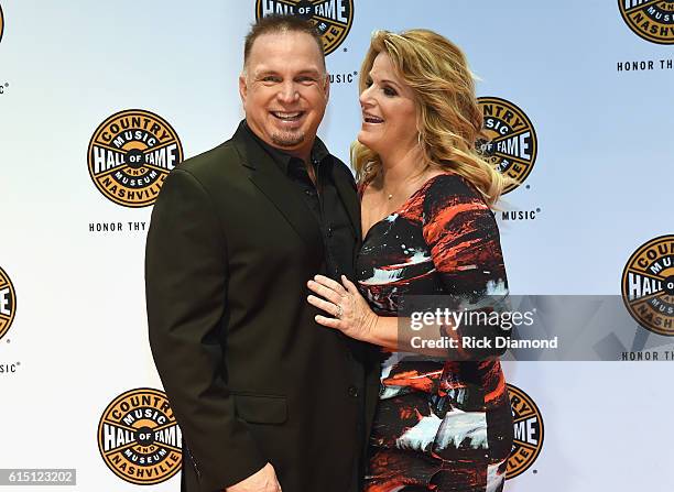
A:
{"label": "man's smiling face with a short goatee", "polygon": [[246,120],[270,145],[306,158],[325,113],[329,81],[316,41],[300,32],[262,34],[239,78]]}

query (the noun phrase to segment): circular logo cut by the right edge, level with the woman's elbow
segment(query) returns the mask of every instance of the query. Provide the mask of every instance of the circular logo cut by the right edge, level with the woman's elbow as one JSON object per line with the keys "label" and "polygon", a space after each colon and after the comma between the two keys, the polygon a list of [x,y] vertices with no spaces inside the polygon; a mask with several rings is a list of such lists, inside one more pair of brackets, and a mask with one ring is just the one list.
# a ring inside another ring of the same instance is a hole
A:
{"label": "circular logo cut by the right edge, level with the woman's elbow", "polygon": [[622,302],[654,334],[674,336],[674,234],[642,244],[622,271]]}

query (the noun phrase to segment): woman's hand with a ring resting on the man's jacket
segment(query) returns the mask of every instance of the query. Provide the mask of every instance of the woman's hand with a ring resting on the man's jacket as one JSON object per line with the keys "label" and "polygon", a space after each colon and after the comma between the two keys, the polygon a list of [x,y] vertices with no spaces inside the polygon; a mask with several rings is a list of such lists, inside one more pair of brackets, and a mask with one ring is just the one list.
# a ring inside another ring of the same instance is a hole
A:
{"label": "woman's hand with a ring resting on the man's jacket", "polygon": [[351,281],[341,275],[339,284],[327,276],[316,275],[306,285],[317,294],[309,295],[308,303],[330,315],[330,317],[316,315],[316,322],[336,328],[356,340],[373,340],[379,316],[370,309],[368,302]]}

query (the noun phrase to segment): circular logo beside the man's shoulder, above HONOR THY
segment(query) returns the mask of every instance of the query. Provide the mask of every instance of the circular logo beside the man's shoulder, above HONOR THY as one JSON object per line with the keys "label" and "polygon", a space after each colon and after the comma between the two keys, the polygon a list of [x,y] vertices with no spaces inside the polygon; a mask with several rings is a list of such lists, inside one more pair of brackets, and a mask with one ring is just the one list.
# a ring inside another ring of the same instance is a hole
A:
{"label": "circular logo beside the man's shoulder, above HONOR THY", "polygon": [[89,175],[100,193],[124,207],[154,204],[164,179],[183,161],[183,146],[163,118],[141,109],[112,114],[89,142]]}

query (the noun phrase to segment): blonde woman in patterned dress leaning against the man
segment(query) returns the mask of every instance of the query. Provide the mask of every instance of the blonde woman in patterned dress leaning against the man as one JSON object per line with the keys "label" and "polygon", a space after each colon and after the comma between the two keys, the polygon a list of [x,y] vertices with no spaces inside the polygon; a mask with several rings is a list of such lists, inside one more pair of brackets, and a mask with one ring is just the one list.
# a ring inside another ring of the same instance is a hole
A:
{"label": "blonde woman in patterned dress leaning against the man", "polygon": [[489,208],[504,179],[475,149],[482,117],[472,75],[453,43],[412,30],[374,33],[360,77],[358,287],[317,275],[308,302],[327,313],[319,324],[384,353],[366,490],[500,491],[512,416],[498,359],[395,351],[402,296],[507,293]]}

